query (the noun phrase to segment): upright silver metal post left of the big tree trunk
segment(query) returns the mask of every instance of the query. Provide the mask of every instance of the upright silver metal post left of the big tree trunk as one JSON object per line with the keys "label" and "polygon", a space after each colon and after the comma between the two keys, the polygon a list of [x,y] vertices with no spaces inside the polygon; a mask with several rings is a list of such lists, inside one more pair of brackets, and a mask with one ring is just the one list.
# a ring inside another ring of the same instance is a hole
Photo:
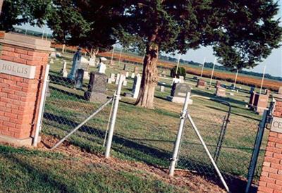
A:
{"label": "upright silver metal post left of the big tree trunk", "polygon": [[121,74],[121,77],[118,80],[118,89],[116,92],[115,100],[114,100],[114,110],[111,116],[111,126],[109,129],[108,139],[106,141],[106,151],[105,151],[105,158],[109,158],[110,151],[111,151],[111,142],[113,140],[114,135],[114,127],[116,124],[116,114],[118,113],[118,102],[120,100],[121,95],[121,87],[123,86],[123,80],[125,79],[125,75]]}

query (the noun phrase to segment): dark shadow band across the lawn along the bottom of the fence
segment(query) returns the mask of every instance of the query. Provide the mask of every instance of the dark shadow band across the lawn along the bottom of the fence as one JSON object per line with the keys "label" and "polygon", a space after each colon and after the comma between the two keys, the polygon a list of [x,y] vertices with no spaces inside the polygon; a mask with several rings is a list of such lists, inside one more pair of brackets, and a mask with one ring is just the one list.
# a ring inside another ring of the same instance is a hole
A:
{"label": "dark shadow band across the lawn along the bottom of the fence", "polygon": [[[63,118],[61,116],[55,116],[52,114],[45,115],[44,118],[56,121],[59,124],[66,124],[66,125],[78,125],[78,123],[73,122],[72,120],[68,120],[68,118]],[[47,125],[46,125],[47,126]],[[103,130],[99,130],[94,127],[90,126],[82,126],[80,128],[80,131],[85,132],[90,135],[96,135],[97,137],[101,137],[102,139],[105,136],[105,132]],[[72,141],[73,139],[70,139],[70,142],[73,144],[79,144],[78,142]],[[87,139],[86,139],[87,140]],[[159,167],[165,167],[168,168],[170,158],[171,158],[171,151],[165,151],[163,149],[159,149],[157,147],[152,147],[151,144],[142,144],[136,141],[143,141],[143,142],[152,142],[154,139],[135,139],[135,138],[129,138],[122,135],[114,135],[113,137],[113,145],[112,149],[116,151],[117,156],[120,158],[125,159],[133,159],[135,161],[141,161],[143,163],[146,163],[149,166],[155,166],[157,168]],[[159,140],[160,142],[164,143],[173,143],[173,141],[166,141],[166,140]],[[83,147],[85,150],[92,151],[91,143],[83,143]],[[89,147],[87,147],[89,146]],[[99,151],[98,151],[99,152]],[[97,153],[94,152],[94,153]],[[202,163],[200,160],[195,161],[191,160],[188,157],[181,158],[181,161],[185,163],[185,165],[181,165],[181,163],[178,164],[178,168],[184,168],[185,170],[192,170],[197,173],[197,175],[202,175],[204,178],[207,178],[208,180],[216,183],[217,185],[221,185],[221,182],[219,181],[218,176],[216,175],[216,172],[214,171],[214,168],[210,165],[210,163]],[[245,188],[245,180],[241,180],[235,175],[231,175],[228,173],[223,173],[223,175],[228,180],[228,185],[231,186],[232,192],[243,192],[243,188]]]}

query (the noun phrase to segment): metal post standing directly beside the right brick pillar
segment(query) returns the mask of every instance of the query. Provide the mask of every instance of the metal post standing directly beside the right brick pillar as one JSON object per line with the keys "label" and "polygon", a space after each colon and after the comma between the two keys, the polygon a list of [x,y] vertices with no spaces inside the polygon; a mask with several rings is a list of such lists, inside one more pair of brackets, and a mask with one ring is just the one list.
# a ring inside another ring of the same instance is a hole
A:
{"label": "metal post standing directly beside the right brick pillar", "polygon": [[257,158],[259,157],[259,149],[262,145],[262,137],[264,136],[264,128],[266,125],[266,119],[267,119],[268,113],[269,111],[264,110],[262,120],[259,123],[259,130],[257,132],[257,137],[255,140],[254,151],[252,151],[252,158],[250,161],[249,171],[247,173],[247,186],[245,189],[245,193],[248,193],[250,191],[250,187],[252,185],[252,180],[254,178],[255,168],[257,166]]}

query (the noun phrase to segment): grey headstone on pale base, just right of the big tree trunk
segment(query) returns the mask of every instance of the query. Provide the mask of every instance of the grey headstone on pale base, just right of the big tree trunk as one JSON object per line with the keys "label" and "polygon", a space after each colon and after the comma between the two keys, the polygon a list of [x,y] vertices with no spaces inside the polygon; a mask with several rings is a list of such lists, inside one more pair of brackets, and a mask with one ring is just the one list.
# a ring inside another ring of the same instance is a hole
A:
{"label": "grey headstone on pale base, just right of the big tree trunk", "polygon": [[[191,87],[186,83],[173,83],[173,86],[171,87],[171,95],[167,96],[166,99],[174,103],[183,104],[185,101],[186,94],[190,90]],[[192,104],[191,99],[189,99],[188,104]]]}

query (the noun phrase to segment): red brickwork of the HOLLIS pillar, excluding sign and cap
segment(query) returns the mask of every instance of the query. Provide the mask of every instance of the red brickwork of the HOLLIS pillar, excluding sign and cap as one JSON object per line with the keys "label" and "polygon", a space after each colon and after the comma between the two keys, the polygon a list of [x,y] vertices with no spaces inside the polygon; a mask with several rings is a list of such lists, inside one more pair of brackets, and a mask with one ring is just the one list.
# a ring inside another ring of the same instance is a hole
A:
{"label": "red brickwork of the HOLLIS pillar, excluding sign and cap", "polygon": [[0,73],[0,135],[16,139],[33,136],[40,92],[49,52],[2,44],[0,59],[36,66],[35,79]]}

